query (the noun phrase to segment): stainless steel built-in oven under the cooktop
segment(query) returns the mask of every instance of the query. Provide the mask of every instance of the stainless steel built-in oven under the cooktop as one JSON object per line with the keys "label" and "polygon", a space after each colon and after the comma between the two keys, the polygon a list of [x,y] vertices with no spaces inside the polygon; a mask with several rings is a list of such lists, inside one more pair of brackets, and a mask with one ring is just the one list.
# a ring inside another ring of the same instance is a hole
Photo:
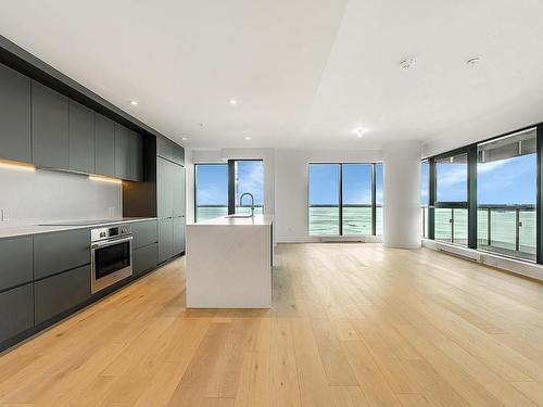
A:
{"label": "stainless steel built-in oven under the cooktop", "polygon": [[90,241],[92,294],[132,275],[130,225],[92,229]]}

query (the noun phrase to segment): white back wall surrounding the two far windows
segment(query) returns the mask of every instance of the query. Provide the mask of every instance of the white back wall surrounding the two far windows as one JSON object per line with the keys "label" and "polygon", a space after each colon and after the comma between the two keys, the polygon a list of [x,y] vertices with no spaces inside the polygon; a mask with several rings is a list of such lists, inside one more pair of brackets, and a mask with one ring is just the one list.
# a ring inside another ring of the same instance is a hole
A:
{"label": "white back wall surrounding the two far windows", "polygon": [[[369,163],[381,161],[380,151],[222,149],[187,153],[187,220],[193,221],[194,163],[233,158],[264,161],[264,211],[276,218],[278,242],[312,241],[307,234],[307,181],[310,163]],[[190,216],[190,217],[189,217]]]}

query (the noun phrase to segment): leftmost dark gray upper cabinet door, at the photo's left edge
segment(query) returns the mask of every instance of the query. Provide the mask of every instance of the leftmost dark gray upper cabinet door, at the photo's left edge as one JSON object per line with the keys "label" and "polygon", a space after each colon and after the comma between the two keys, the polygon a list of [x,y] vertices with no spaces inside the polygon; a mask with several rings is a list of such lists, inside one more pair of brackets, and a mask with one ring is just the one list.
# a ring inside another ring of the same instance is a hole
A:
{"label": "leftmost dark gray upper cabinet door, at the photo's left edge", "polygon": [[30,78],[0,64],[0,158],[31,163]]}

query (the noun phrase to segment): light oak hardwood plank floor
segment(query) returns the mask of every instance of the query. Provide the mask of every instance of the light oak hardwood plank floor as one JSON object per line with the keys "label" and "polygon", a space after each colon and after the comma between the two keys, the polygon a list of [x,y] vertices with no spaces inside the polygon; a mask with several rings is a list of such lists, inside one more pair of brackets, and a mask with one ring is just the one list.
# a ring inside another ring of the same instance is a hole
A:
{"label": "light oak hardwood plank floor", "polygon": [[176,260],[0,357],[0,404],[543,406],[543,284],[429,250],[281,244],[269,310]]}

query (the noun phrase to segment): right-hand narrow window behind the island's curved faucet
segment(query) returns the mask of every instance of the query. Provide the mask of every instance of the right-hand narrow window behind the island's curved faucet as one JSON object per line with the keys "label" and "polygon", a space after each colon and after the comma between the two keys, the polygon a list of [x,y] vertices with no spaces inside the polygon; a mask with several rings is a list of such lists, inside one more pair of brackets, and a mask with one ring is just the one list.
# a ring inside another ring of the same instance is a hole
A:
{"label": "right-hand narrow window behind the island's curved faucet", "polygon": [[251,213],[251,196],[243,196],[243,206],[239,199],[245,192],[254,196],[254,214],[263,213],[264,204],[264,165],[261,160],[239,160],[233,162],[236,179],[236,213]]}

